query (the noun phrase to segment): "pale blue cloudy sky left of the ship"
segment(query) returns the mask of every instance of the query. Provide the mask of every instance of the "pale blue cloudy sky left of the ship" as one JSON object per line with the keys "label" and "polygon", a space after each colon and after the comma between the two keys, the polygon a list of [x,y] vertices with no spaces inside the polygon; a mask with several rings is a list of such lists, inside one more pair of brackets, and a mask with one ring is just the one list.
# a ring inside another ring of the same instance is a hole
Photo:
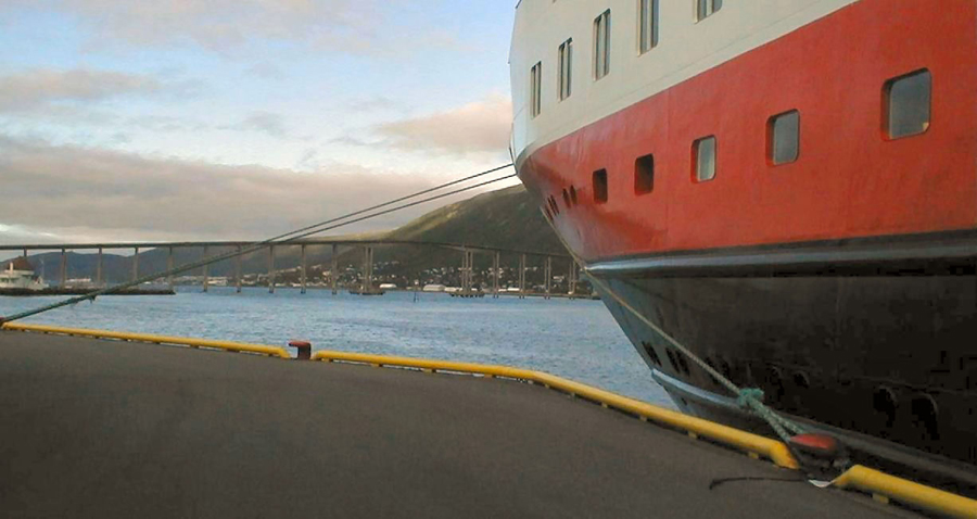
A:
{"label": "pale blue cloudy sky left of the ship", "polygon": [[259,239],[506,164],[513,15],[2,0],[0,242]]}

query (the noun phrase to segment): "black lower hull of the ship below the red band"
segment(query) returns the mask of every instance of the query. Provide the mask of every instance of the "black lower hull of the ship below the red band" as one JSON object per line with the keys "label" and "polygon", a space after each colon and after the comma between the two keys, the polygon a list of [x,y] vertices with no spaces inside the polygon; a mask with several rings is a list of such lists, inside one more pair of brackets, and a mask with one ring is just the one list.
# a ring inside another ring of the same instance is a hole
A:
{"label": "black lower hull of the ship below the red band", "polygon": [[[617,258],[588,270],[736,384],[762,389],[772,407],[974,472],[975,257],[967,231]],[[683,410],[750,421],[705,370],[602,299]]]}

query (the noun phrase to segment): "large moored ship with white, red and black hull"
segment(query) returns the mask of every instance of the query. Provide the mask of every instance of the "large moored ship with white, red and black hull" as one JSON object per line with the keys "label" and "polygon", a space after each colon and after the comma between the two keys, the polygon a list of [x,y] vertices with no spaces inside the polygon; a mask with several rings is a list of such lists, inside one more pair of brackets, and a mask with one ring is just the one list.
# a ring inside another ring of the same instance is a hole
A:
{"label": "large moored ship with white, red and black hull", "polygon": [[518,174],[681,410],[762,427],[663,336],[977,473],[977,1],[522,0],[509,64]]}

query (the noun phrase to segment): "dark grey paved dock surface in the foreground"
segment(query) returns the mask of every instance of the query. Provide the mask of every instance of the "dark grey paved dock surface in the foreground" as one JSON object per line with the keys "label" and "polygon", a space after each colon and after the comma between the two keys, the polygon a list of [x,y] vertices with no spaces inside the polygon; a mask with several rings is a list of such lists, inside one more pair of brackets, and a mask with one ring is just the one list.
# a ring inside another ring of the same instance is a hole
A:
{"label": "dark grey paved dock surface in the foreground", "polygon": [[516,381],[9,331],[0,460],[0,517],[916,517]]}

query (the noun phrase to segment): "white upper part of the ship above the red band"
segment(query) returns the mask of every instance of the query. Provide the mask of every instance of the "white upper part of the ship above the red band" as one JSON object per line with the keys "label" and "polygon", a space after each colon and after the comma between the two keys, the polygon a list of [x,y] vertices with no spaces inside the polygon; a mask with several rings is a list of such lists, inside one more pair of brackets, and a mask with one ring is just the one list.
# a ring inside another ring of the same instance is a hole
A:
{"label": "white upper part of the ship above the red band", "polygon": [[[513,155],[521,162],[526,152],[858,1],[522,0],[509,56]],[[719,7],[700,15],[702,3]],[[602,16],[606,24],[598,23]],[[561,77],[566,68],[569,78]]]}

